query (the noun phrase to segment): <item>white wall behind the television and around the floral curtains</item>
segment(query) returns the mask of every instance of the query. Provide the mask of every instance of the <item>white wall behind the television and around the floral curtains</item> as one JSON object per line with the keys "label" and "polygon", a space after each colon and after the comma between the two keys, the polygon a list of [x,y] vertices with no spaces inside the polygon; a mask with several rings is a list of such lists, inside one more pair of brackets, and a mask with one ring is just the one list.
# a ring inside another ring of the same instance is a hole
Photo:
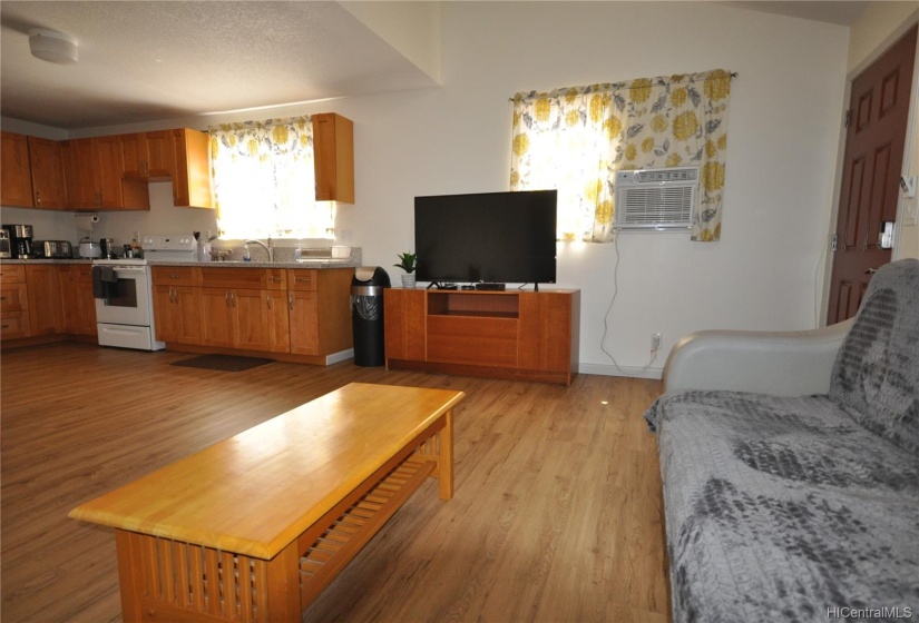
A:
{"label": "white wall behind the television and around the floral curtains", "polygon": [[[740,77],[722,240],[622,235],[606,349],[634,373],[648,360],[651,333],[663,333],[651,368],[659,375],[674,342],[692,330],[817,325],[848,29],[708,2],[447,2],[443,43],[442,88],[260,111],[335,111],[354,120],[358,201],[340,208],[338,225],[363,247],[365,264],[399,274],[389,267],[413,247],[414,196],[508,188],[515,92],[724,68]],[[141,219],[145,227],[207,228],[192,226],[189,212],[160,198],[150,215],[108,220],[126,234]],[[581,369],[618,374],[599,345],[617,249],[559,248],[559,284],[583,290]]]}

